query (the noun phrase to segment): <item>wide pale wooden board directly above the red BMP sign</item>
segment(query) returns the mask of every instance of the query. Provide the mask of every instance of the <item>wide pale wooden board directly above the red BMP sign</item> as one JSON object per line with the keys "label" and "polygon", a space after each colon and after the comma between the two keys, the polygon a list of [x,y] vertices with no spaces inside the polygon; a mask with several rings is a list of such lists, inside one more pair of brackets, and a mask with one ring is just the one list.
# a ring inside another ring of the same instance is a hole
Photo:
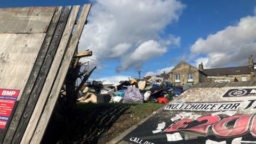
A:
{"label": "wide pale wooden board directly above the red BMP sign", "polygon": [[[20,90],[22,95],[45,34],[0,34],[0,88]],[[15,107],[18,101],[15,103]],[[5,129],[0,129],[0,143],[15,111],[12,110]]]}

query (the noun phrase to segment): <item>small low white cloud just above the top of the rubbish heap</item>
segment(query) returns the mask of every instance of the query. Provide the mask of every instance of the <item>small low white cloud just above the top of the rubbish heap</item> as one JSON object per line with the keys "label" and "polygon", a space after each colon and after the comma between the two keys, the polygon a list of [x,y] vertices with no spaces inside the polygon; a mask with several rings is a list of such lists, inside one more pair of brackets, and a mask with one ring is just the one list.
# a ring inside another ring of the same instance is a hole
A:
{"label": "small low white cloud just above the top of the rubbish heap", "polygon": [[116,84],[120,81],[129,81],[130,76],[117,75],[95,79],[95,81],[101,81],[103,84]]}

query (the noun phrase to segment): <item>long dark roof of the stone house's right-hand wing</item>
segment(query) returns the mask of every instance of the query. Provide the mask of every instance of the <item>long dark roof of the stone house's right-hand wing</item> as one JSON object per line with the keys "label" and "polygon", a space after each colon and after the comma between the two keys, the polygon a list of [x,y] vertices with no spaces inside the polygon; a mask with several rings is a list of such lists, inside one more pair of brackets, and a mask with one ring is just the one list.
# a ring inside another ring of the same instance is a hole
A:
{"label": "long dark roof of the stone house's right-hand wing", "polygon": [[212,69],[203,69],[202,72],[207,76],[243,75],[243,74],[250,74],[250,68],[248,66],[212,68]]}

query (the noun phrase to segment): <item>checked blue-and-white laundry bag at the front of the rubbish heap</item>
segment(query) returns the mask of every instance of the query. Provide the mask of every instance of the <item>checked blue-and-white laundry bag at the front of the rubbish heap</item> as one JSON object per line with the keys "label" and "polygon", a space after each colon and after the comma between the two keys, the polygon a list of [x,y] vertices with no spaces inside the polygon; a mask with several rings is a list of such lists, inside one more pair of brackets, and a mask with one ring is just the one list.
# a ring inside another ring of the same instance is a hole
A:
{"label": "checked blue-and-white laundry bag at the front of the rubbish heap", "polygon": [[123,103],[142,103],[143,96],[140,93],[140,90],[136,87],[128,86],[124,94]]}

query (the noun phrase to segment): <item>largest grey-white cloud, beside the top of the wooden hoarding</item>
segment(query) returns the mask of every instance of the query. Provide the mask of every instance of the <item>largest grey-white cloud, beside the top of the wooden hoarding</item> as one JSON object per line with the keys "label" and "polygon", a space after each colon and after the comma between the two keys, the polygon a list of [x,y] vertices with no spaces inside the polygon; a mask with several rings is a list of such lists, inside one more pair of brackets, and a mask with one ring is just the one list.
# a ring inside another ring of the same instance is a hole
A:
{"label": "largest grey-white cloud, beside the top of the wooden hoarding", "polygon": [[139,68],[145,61],[167,52],[168,45],[180,43],[180,37],[170,36],[163,39],[159,36],[160,33],[164,33],[167,25],[178,21],[181,11],[185,8],[185,5],[179,1],[96,0],[92,2],[88,23],[80,39],[79,51],[91,49],[93,59],[122,60],[119,70],[130,69],[126,66],[124,58],[131,54],[136,55],[135,51],[140,50],[141,45],[147,44],[151,39],[157,47],[149,46],[143,49],[155,51],[159,48],[161,54],[150,55],[151,57],[146,58],[139,65],[137,65],[139,61],[129,62],[129,66],[137,65],[131,68]]}

